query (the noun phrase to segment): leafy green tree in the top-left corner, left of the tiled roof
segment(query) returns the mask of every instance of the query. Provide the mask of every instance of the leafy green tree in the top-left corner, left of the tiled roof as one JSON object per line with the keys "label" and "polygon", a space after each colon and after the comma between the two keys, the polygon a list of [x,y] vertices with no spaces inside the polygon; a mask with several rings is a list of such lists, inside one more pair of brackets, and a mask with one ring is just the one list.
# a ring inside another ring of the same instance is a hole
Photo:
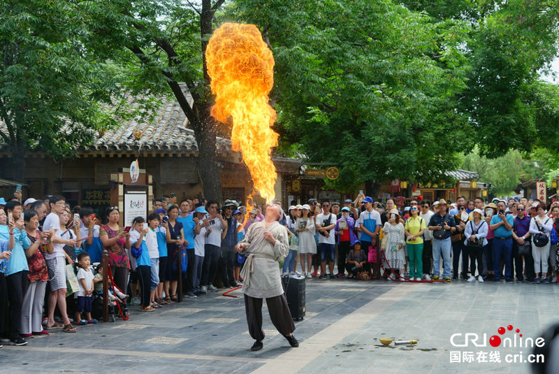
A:
{"label": "leafy green tree in the top-left corner, left of the tiled roof", "polygon": [[95,131],[115,124],[118,80],[84,50],[87,32],[71,1],[0,2],[0,138],[24,182],[25,154],[75,154]]}

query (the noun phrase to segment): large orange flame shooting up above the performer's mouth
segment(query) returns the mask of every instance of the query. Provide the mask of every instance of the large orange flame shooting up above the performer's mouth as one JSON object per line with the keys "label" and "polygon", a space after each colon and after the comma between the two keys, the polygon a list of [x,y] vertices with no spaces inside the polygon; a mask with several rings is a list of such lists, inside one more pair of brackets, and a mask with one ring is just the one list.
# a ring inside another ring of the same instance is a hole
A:
{"label": "large orange flame shooting up above the performer's mouth", "polygon": [[210,38],[205,58],[215,94],[212,117],[223,123],[231,118],[233,150],[240,150],[254,189],[270,202],[277,178],[270,152],[278,137],[271,128],[276,113],[268,103],[274,85],[272,51],[254,24],[225,23]]}

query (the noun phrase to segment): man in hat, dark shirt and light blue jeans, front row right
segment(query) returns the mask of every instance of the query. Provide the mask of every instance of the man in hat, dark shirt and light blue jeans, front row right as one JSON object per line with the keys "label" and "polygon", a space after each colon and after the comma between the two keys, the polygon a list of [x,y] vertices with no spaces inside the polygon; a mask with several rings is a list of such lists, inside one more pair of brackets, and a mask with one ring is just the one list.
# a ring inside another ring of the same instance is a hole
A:
{"label": "man in hat, dark shirt and light blue jeans, front row right", "polygon": [[451,282],[450,279],[450,237],[456,231],[454,219],[447,213],[447,201],[439,200],[439,213],[436,213],[429,220],[428,229],[433,230],[433,280],[439,280],[440,260],[442,256],[442,277],[444,282]]}

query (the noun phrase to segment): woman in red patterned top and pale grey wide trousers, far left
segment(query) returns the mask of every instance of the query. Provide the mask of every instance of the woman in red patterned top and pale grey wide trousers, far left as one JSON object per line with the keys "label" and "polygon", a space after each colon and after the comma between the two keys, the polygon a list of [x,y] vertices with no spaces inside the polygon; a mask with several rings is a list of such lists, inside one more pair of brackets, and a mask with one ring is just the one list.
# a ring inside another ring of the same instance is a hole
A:
{"label": "woman in red patterned top and pale grey wide trousers, far left", "polygon": [[38,231],[39,219],[34,209],[25,210],[25,232],[31,240],[31,245],[25,254],[27,256],[27,266],[29,266],[29,287],[23,298],[22,304],[22,325],[21,335],[24,338],[31,338],[34,335],[49,335],[43,330],[41,324],[43,319],[43,304],[45,303],[45,289],[48,281],[47,261],[43,257],[43,252],[52,254],[55,247],[52,246],[52,232]]}

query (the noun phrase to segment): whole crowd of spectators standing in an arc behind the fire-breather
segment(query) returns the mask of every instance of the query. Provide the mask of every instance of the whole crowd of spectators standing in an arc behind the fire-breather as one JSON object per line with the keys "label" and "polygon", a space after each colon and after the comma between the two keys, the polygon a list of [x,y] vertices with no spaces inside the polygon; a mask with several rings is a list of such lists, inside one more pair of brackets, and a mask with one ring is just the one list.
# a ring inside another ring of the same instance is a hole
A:
{"label": "whole crowd of spectators standing in an arc behind the fire-breather", "polygon": [[[280,217],[290,236],[284,276],[557,282],[556,202],[458,196],[451,204],[398,207],[360,193],[343,203],[292,204]],[[180,296],[239,287],[245,257],[235,245],[264,219],[263,209],[166,196],[147,217],[122,226],[117,206],[97,215],[57,195],[0,199],[0,343],[26,345],[52,329],[75,333],[75,324],[96,324],[92,311],[103,292],[111,303],[155,312]]]}

